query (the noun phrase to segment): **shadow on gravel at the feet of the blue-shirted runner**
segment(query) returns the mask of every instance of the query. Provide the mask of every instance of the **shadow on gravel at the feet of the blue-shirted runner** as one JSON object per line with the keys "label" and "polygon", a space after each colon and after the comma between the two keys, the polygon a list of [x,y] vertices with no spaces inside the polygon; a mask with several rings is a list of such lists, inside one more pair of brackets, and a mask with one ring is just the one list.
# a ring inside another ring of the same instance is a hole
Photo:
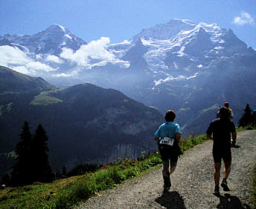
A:
{"label": "shadow on gravel at the feet of the blue-shirted runner", "polygon": [[165,208],[185,208],[182,196],[176,191],[164,192],[155,201]]}

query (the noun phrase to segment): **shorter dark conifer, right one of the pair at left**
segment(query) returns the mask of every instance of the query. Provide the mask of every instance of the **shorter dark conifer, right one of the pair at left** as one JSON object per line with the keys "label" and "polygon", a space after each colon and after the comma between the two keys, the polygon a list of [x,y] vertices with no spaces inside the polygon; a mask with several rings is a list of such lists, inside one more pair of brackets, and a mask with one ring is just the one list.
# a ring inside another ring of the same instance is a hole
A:
{"label": "shorter dark conifer, right one of the pair at left", "polygon": [[48,161],[47,141],[48,136],[46,136],[45,129],[42,125],[38,125],[31,146],[34,182],[48,182],[52,179],[51,167]]}

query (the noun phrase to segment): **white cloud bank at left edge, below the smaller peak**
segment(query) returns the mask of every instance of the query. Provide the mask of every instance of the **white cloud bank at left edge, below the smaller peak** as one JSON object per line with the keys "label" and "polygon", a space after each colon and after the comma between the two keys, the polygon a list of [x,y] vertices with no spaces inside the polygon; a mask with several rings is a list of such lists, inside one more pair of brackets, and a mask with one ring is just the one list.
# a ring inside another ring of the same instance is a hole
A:
{"label": "white cloud bank at left edge, below the smaller peak", "polygon": [[50,72],[55,69],[42,62],[35,62],[27,53],[17,47],[0,47],[0,65],[10,67],[20,73],[34,75],[37,71]]}

